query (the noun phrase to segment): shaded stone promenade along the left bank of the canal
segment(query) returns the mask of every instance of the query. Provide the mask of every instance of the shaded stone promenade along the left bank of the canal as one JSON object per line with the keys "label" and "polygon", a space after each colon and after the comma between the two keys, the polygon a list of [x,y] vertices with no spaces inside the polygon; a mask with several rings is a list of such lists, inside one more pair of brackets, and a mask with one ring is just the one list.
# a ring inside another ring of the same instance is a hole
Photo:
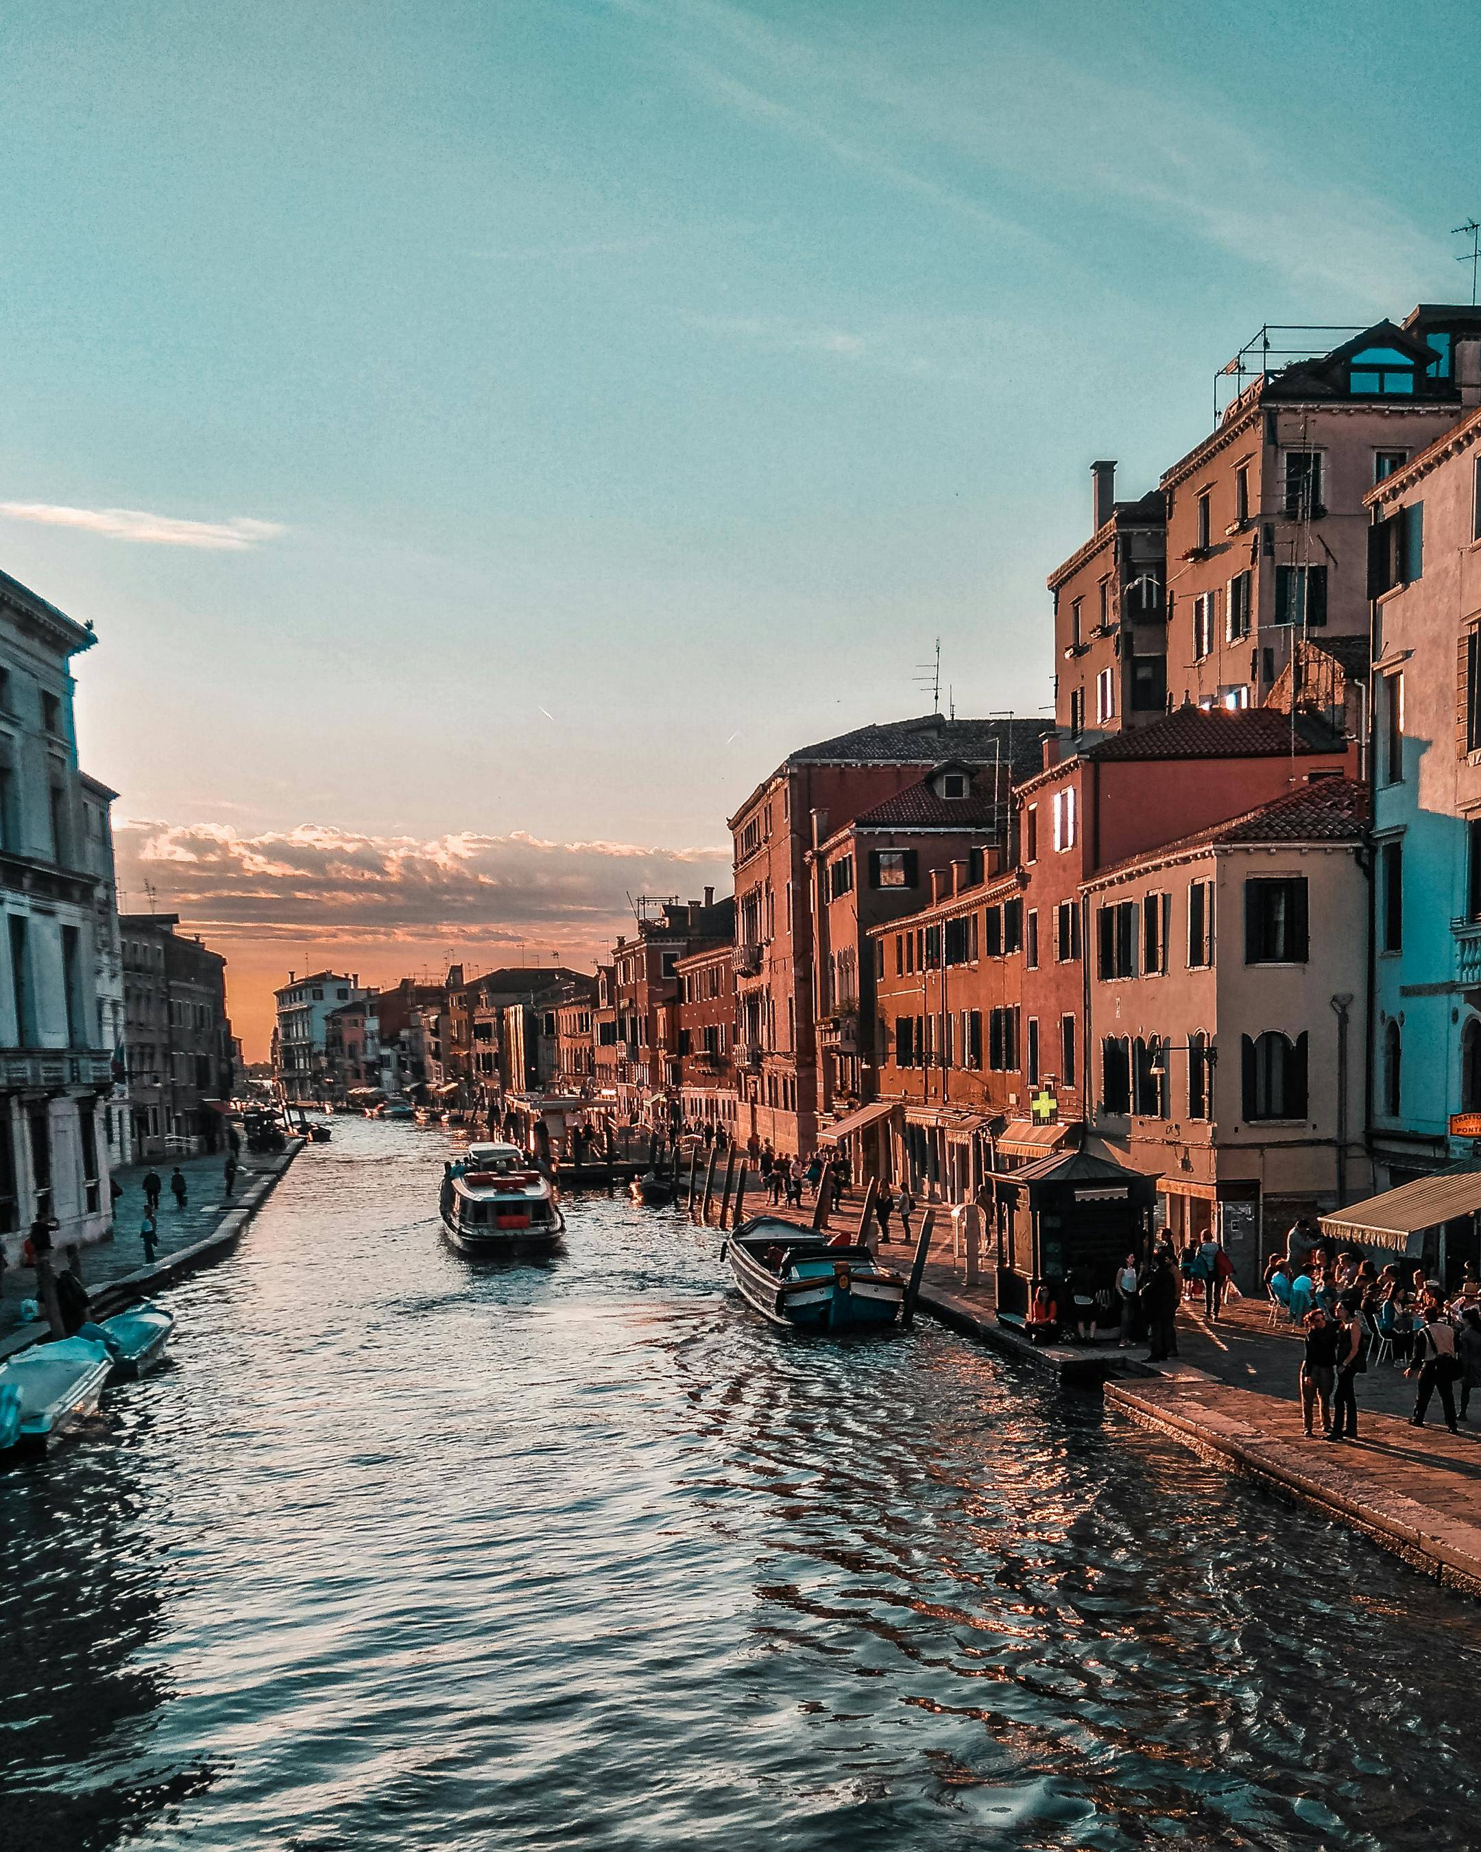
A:
{"label": "shaded stone promenade along the left bank of the canal", "polygon": [[[156,1170],[165,1185],[156,1217],[156,1265],[170,1270],[172,1259],[211,1243],[218,1233],[226,1233],[228,1217],[244,1217],[233,1224],[237,1232],[246,1226],[263,1195],[281,1176],[300,1146],[302,1141],[294,1139],[287,1152],[278,1156],[243,1150],[237,1159],[241,1169],[235,1189],[230,1196],[224,1174],[226,1152],[181,1159],[180,1169],[187,1185],[183,1209],[176,1208],[168,1187],[174,1159],[124,1165],[115,1172],[124,1189],[113,1219],[115,1232],[107,1241],[94,1241],[81,1250],[81,1274],[89,1293],[96,1295],[100,1287],[148,1272],[150,1261],[144,1256],[139,1230],[144,1220],[144,1178],[150,1170]],[[56,1259],[57,1265],[63,1265],[65,1254],[57,1252]],[[33,1296],[35,1272],[30,1267],[7,1267],[0,1274],[0,1358],[11,1352],[17,1343],[30,1341],[22,1326],[20,1304]]]}

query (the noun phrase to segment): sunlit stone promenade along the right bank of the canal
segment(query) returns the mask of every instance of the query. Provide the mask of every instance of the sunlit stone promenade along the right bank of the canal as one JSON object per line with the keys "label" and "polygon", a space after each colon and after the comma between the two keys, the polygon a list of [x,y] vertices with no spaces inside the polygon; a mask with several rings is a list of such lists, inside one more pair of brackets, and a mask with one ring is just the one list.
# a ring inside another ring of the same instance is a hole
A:
{"label": "sunlit stone promenade along the right bank of the canal", "polygon": [[[863,1195],[848,1191],[829,1215],[829,1230],[857,1235]],[[763,1204],[750,1191],[746,1209]],[[811,1224],[813,1209],[772,1209]],[[913,1215],[918,1233],[918,1211]],[[907,1270],[915,1241],[896,1239],[881,1256]],[[1146,1345],[1127,1350],[1114,1337],[1077,1345],[1031,1346],[1000,1326],[990,1269],[968,1285],[952,1248],[950,1213],[937,1222],[922,1280],[920,1309],[977,1337],[1063,1383],[1103,1383],[1118,1415],[1153,1428],[1205,1459],[1220,1459],[1279,1491],[1324,1508],[1425,1574],[1481,1595],[1481,1396],[1475,1426],[1446,1432],[1438,1396],[1427,1426],[1413,1428],[1414,1382],[1392,1363],[1357,1378],[1359,1439],[1329,1443],[1301,1430],[1300,1333],[1270,1324],[1263,1300],[1237,1298],[1216,1324],[1201,1304],[1177,1315],[1177,1358],[1150,1363]]]}

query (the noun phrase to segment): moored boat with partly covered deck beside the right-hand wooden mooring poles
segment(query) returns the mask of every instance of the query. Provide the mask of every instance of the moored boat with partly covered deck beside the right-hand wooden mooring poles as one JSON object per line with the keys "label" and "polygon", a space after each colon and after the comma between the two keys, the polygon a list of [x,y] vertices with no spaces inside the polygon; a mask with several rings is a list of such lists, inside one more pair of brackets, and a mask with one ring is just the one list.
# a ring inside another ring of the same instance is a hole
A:
{"label": "moored boat with partly covered deck beside the right-hand wooden mooring poles", "polygon": [[863,1245],[757,1215],[726,1243],[735,1283],[763,1319],[803,1332],[857,1332],[900,1324],[905,1280]]}

